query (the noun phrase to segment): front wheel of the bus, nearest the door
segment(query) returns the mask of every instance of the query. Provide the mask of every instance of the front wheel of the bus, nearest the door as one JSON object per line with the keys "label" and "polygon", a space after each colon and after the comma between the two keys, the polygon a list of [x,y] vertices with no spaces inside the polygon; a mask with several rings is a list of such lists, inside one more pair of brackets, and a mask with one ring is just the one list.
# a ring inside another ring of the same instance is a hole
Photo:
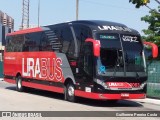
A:
{"label": "front wheel of the bus, nearest the door", "polygon": [[70,102],[75,102],[76,97],[75,97],[75,87],[72,82],[69,82],[65,88],[65,99]]}

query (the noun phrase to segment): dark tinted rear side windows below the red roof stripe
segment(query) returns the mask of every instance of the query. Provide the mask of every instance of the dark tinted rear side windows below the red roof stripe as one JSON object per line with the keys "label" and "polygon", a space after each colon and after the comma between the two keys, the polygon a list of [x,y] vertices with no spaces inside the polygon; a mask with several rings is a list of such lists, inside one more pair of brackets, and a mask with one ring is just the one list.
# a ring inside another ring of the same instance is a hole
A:
{"label": "dark tinted rear side windows below the red roof stripe", "polygon": [[8,36],[6,39],[7,52],[29,52],[40,50],[41,32]]}

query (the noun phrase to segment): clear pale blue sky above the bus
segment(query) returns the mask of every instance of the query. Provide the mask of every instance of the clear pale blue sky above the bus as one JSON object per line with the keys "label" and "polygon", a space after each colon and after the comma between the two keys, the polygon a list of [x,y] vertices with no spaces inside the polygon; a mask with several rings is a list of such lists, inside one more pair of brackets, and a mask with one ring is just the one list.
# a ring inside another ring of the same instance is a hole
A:
{"label": "clear pale blue sky above the bus", "polygon": [[[158,4],[151,0],[148,4],[157,8]],[[0,0],[0,10],[14,19],[15,30],[22,21],[22,0]],[[106,20],[123,23],[136,29],[143,35],[142,30],[148,24],[141,21],[147,15],[147,7],[135,8],[129,0],[79,0],[79,20]],[[40,25],[51,25],[76,19],[76,0],[40,0]],[[30,24],[38,24],[38,0],[30,0]]]}

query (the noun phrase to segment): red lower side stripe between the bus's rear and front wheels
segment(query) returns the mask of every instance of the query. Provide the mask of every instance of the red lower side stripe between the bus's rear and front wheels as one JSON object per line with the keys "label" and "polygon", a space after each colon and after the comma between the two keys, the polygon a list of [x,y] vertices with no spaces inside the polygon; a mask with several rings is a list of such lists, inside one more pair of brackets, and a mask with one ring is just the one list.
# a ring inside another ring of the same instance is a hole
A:
{"label": "red lower side stripe between the bus's rear and front wheels", "polygon": [[63,88],[55,87],[55,86],[41,85],[41,84],[36,84],[31,82],[24,82],[24,81],[22,81],[22,86],[37,88],[41,90],[47,90],[51,92],[63,93]]}

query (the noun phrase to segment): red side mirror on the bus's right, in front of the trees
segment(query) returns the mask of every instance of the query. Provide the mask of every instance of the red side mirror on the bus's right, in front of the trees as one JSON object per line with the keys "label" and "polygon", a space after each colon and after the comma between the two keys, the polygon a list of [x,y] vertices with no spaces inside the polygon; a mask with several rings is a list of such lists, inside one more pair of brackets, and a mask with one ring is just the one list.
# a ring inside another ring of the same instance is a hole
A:
{"label": "red side mirror on the bus's right, in front of the trees", "polygon": [[152,57],[157,58],[158,57],[158,46],[151,42],[143,42],[144,45],[150,46],[152,48]]}

